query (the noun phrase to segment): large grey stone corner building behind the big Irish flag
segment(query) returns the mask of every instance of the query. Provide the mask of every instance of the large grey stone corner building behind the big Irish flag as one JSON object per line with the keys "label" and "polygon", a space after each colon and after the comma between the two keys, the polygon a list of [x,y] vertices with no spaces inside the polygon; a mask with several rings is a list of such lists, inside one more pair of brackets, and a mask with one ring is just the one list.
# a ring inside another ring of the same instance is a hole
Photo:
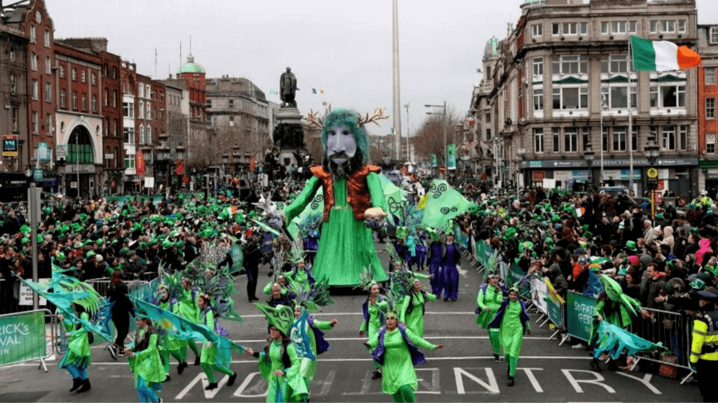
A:
{"label": "large grey stone corner building behind the big Irish flag", "polygon": [[[631,34],[695,49],[695,1],[521,5],[516,27],[509,25],[495,52],[492,45],[485,54],[485,75],[470,107],[503,184],[553,179],[566,189],[610,178],[628,185],[633,178],[642,194],[649,167],[643,149],[652,137],[661,148],[656,166],[665,189],[684,197],[697,193],[697,103],[689,95],[697,90],[696,70],[630,72]],[[583,159],[589,143],[592,166]]]}

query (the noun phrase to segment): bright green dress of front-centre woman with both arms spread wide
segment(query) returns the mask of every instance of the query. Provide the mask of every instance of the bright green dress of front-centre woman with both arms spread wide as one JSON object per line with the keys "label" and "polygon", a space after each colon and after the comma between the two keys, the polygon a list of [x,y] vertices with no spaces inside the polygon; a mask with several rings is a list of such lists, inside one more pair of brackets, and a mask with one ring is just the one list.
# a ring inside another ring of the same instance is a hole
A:
{"label": "bright green dress of front-centre woman with both arms spread wide", "polygon": [[[436,345],[429,343],[424,338],[416,336],[409,328],[406,329],[406,337],[416,347],[427,350],[437,348]],[[379,345],[379,339],[376,334],[369,339],[369,345],[371,349],[375,349]],[[384,333],[383,345],[385,350],[381,374],[381,392],[391,395],[394,402],[413,402],[414,393],[412,391],[416,390],[419,383],[416,380],[414,364],[411,362],[409,346],[406,345],[406,341],[401,336],[398,327],[393,331],[387,330]],[[406,387],[411,390],[407,391]]]}

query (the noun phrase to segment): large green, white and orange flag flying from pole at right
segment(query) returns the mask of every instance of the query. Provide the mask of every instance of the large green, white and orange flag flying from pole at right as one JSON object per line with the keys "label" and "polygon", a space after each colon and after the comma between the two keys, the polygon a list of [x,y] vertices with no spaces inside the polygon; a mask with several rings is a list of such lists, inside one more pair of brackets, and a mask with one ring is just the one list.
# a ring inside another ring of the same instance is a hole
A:
{"label": "large green, white and orange flag flying from pole at right", "polygon": [[630,37],[635,71],[666,72],[689,69],[701,64],[701,57],[687,46],[668,41]]}

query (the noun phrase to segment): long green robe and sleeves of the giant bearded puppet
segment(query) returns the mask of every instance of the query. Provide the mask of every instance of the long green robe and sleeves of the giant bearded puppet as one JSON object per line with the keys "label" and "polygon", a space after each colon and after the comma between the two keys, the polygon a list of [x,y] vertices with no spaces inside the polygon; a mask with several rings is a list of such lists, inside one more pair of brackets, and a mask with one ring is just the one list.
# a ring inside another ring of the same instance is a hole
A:
{"label": "long green robe and sleeves of the giant bearded puppet", "polygon": [[[372,172],[366,176],[366,182],[371,205],[386,209],[379,176]],[[304,207],[313,201],[319,186],[321,182],[316,176],[307,181],[294,203],[284,209],[286,222],[292,222],[294,217],[302,213]],[[329,285],[357,285],[363,267],[371,267],[374,280],[386,281],[388,277],[376,254],[371,229],[364,225],[363,220],[354,218],[354,210],[348,204],[347,179],[335,177],[332,187],[334,205],[329,211],[327,222],[322,225],[320,247],[314,260],[312,275],[317,281],[327,278]]]}

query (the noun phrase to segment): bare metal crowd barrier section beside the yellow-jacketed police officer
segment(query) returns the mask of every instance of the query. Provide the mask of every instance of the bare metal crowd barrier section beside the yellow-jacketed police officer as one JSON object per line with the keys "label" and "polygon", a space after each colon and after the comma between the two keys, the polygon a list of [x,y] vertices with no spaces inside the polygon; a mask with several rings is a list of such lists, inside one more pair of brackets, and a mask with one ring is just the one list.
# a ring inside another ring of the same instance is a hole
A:
{"label": "bare metal crowd barrier section beside the yellow-jacketed police officer", "polygon": [[668,354],[666,351],[635,354],[635,362],[631,369],[642,360],[687,369],[690,373],[681,380],[681,384],[684,384],[694,374],[690,366],[691,318],[668,310],[644,309],[651,312],[653,318],[635,319],[630,332],[652,343],[661,343]]}

